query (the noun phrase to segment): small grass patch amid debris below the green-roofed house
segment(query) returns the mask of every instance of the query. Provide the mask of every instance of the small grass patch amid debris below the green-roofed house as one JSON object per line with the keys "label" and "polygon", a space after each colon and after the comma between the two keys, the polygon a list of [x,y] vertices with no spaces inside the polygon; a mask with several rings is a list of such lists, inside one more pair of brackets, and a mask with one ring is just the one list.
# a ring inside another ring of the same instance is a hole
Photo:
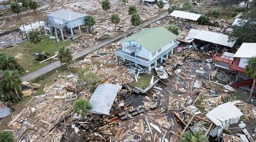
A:
{"label": "small grass patch amid debris below the green-roofed house", "polygon": [[[133,82],[128,83],[128,85],[131,87],[136,86],[136,87],[139,87],[140,89],[144,90],[150,85],[152,76],[156,76],[156,72],[154,69],[151,71],[151,74],[146,74],[146,73],[139,74],[138,82],[133,81]],[[154,77],[154,82],[156,80],[157,79]]]}

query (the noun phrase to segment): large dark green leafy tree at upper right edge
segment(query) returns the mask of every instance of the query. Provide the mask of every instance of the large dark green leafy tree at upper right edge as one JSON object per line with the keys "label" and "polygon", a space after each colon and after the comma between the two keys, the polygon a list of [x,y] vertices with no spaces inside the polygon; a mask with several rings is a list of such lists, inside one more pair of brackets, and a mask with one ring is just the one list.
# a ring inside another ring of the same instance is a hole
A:
{"label": "large dark green leafy tree at upper right edge", "polygon": [[240,26],[233,26],[233,32],[229,35],[230,41],[236,41],[236,44],[256,43],[256,7],[247,12],[244,18],[247,22]]}

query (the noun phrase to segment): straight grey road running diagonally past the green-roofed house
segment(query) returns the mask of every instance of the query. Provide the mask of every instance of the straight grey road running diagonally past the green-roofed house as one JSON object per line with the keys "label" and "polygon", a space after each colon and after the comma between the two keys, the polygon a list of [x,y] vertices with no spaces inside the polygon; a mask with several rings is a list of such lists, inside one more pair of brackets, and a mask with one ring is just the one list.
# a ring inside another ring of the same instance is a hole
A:
{"label": "straight grey road running diagonally past the green-roofed house", "polygon": [[[122,37],[125,37],[127,35],[133,34],[134,31],[140,30],[143,27],[148,26],[151,23],[155,23],[156,21],[165,18],[166,16],[168,16],[168,12],[164,12],[163,14],[160,14],[158,16],[156,16],[155,18],[149,19],[144,21],[142,24],[140,24],[137,27],[131,28],[130,30],[127,30],[126,32],[123,32],[122,34],[119,34],[117,36],[114,37],[110,37],[110,39],[106,39],[104,41],[99,42],[98,44],[94,44],[91,47],[88,47],[86,49],[82,49],[81,51],[79,51],[78,53],[76,53],[75,55],[73,55],[73,60],[79,59],[80,57],[83,57],[85,55],[88,55],[88,53],[104,47],[106,44],[108,43],[112,43],[114,41],[117,41],[119,39],[121,39]],[[44,66],[43,68],[40,68],[38,70],[35,70],[34,72],[28,73],[25,76],[22,76],[21,79],[22,81],[31,81],[34,80],[35,78],[38,78],[48,72],[51,72],[52,70],[59,68],[60,67],[60,61],[55,61],[52,62],[49,65]]]}

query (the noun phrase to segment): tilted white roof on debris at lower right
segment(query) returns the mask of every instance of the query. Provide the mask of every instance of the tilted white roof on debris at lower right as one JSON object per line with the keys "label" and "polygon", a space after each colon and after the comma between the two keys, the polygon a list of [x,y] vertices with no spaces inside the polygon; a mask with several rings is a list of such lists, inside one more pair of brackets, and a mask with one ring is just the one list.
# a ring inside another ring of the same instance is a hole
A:
{"label": "tilted white roof on debris at lower right", "polygon": [[242,112],[232,102],[228,102],[213,108],[206,116],[216,126],[228,128],[230,124],[237,123],[242,115]]}

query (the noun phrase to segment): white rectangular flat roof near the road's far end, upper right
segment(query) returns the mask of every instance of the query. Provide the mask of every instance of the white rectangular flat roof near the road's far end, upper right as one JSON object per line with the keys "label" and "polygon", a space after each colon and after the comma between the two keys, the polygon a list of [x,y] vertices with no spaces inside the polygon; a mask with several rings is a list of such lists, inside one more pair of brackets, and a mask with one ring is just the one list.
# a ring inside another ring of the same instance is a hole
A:
{"label": "white rectangular flat roof near the road's far end, upper right", "polygon": [[179,17],[179,18],[184,18],[184,19],[189,19],[189,20],[198,20],[200,18],[200,16],[202,16],[201,14],[195,14],[195,13],[191,13],[191,12],[185,12],[185,11],[179,11],[179,10],[174,10],[172,11],[172,13],[170,14],[170,16],[175,16],[175,17]]}

